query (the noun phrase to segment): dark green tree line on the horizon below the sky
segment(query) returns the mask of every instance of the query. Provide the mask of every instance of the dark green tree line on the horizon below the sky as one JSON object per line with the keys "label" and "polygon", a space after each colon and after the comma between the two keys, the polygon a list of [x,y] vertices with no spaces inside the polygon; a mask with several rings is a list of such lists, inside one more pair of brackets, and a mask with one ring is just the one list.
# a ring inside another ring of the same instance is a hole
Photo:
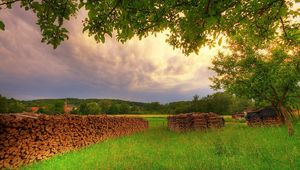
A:
{"label": "dark green tree line on the horizon below the sky", "polygon": [[[14,101],[15,104],[11,104]],[[189,112],[215,112],[221,115],[228,115],[242,112],[245,109],[255,108],[255,102],[246,98],[236,97],[226,92],[217,92],[200,98],[193,96],[190,101],[177,101],[167,104],[159,102],[132,102],[115,99],[42,99],[32,101],[18,101],[1,97],[1,108],[6,106],[11,109],[0,110],[1,113],[17,113],[31,111],[31,107],[38,107],[37,113],[62,114],[64,105],[73,109],[71,114],[179,114]],[[5,106],[6,105],[6,106]]]}

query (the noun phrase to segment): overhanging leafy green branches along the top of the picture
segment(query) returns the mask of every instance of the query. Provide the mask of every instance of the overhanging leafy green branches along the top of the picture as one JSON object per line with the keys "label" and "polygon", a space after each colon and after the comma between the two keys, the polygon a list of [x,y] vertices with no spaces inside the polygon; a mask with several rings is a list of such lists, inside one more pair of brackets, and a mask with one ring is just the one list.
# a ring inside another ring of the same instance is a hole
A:
{"label": "overhanging leafy green branches along the top of the picture", "polygon": [[[166,41],[190,54],[215,45],[216,39],[221,44],[220,36],[242,35],[256,43],[266,43],[276,34],[296,43],[300,39],[299,22],[291,22],[299,9],[293,10],[296,2],[288,0],[0,0],[0,7],[11,8],[16,2],[36,14],[42,42],[54,48],[68,39],[64,21],[81,8],[88,12],[83,31],[97,42],[113,33],[126,42],[167,31]],[[0,29],[4,30],[3,22]]]}

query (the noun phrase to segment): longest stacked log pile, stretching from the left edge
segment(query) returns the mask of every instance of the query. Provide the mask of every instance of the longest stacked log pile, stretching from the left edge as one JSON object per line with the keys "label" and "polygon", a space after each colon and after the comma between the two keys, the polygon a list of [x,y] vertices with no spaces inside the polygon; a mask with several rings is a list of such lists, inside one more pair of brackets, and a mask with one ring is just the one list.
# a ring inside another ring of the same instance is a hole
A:
{"label": "longest stacked log pile, stretching from the left edge", "polygon": [[148,128],[142,118],[0,115],[0,169],[16,168],[107,138]]}

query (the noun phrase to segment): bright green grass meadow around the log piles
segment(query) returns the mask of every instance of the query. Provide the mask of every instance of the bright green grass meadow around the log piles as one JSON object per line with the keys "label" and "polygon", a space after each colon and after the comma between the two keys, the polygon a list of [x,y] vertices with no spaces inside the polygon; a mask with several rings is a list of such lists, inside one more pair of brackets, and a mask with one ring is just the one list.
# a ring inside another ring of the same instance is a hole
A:
{"label": "bright green grass meadow around the log piles", "polygon": [[300,124],[285,127],[170,132],[165,118],[147,118],[150,129],[57,155],[23,169],[299,169]]}

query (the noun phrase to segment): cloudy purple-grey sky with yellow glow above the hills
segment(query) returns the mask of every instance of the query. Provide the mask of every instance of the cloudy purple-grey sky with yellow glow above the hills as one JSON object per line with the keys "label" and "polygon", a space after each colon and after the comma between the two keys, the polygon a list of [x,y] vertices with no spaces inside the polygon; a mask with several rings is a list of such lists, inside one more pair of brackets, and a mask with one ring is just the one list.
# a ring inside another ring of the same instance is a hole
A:
{"label": "cloudy purple-grey sky with yellow glow above the hills", "polygon": [[41,43],[32,12],[1,10],[0,94],[16,99],[114,98],[167,103],[213,93],[208,69],[218,48],[185,56],[164,33],[125,44],[107,38],[97,44],[82,33],[84,15],[66,23],[69,40],[57,49]]}

